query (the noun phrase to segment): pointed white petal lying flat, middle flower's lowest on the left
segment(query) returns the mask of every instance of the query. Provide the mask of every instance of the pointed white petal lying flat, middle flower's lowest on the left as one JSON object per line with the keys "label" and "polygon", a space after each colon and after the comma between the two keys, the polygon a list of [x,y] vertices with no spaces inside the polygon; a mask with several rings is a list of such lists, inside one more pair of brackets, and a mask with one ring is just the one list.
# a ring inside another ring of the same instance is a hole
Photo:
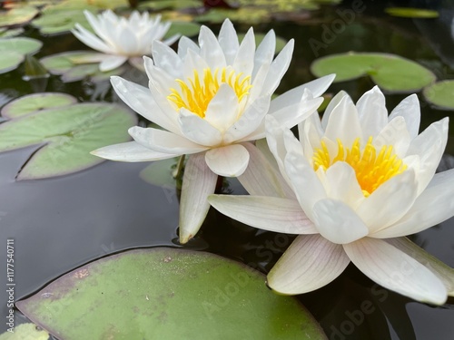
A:
{"label": "pointed white petal lying flat, middle flower's lowest on the left", "polygon": [[128,141],[121,144],[105,146],[90,152],[92,155],[104,158],[105,160],[118,161],[150,161],[150,160],[166,160],[178,155],[156,152],[145,148],[136,141]]}

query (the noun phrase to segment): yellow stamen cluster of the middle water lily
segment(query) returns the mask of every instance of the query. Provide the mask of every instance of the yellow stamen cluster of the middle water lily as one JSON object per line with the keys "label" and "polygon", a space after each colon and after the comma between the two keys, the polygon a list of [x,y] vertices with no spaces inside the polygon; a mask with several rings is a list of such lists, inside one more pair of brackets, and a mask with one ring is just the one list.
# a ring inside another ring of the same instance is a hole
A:
{"label": "yellow stamen cluster of the middle water lily", "polygon": [[242,73],[236,74],[234,71],[227,73],[226,68],[222,68],[221,72],[216,69],[214,73],[210,68],[203,70],[202,77],[194,70],[193,79],[188,78],[188,82],[181,79],[176,79],[176,83],[180,84],[181,91],[170,89],[172,92],[167,99],[174,102],[178,109],[182,107],[189,111],[205,117],[208,104],[212,101],[214,95],[218,92],[222,83],[227,83],[236,93],[238,102],[249,94],[251,89],[251,76],[242,77]]}

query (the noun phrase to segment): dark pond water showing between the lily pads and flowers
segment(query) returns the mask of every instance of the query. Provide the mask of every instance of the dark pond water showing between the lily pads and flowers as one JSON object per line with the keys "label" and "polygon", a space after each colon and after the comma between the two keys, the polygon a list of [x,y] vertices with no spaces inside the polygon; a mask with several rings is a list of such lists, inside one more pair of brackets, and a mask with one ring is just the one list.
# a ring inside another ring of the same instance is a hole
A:
{"label": "dark pond water showing between the lily pads and flowers", "polygon": [[[301,23],[277,22],[256,25],[258,32],[271,27],[284,38],[295,38],[296,48],[291,69],[284,77],[280,92],[313,79],[309,71],[317,56],[348,51],[396,53],[423,63],[439,79],[454,78],[454,40],[450,21],[454,11],[443,3],[437,20],[396,19],[382,15],[382,4],[365,3],[366,10],[346,24],[340,34],[317,51],[308,43],[320,39],[321,24],[330,25],[338,18],[337,8],[328,7]],[[245,31],[248,24],[239,24]],[[213,25],[216,30],[216,25]],[[43,38],[28,29],[25,35],[44,41],[39,57],[51,53],[84,48],[71,34]],[[34,90],[22,80],[24,70],[0,75],[0,104]],[[137,73],[130,73],[134,82]],[[373,83],[368,79],[337,83],[329,92],[341,89],[356,101]],[[51,77],[40,91],[70,92],[81,101],[117,101],[108,83],[88,82],[64,84]],[[392,109],[404,95],[387,95]],[[453,112],[431,109],[421,100],[422,127]],[[454,126],[444,169],[454,161]],[[16,298],[27,296],[49,281],[84,263],[127,248],[176,245],[178,197],[175,189],[163,189],[146,183],[139,172],[146,163],[106,161],[90,170],[51,180],[16,181],[15,175],[36,147],[0,154],[0,225],[2,248],[6,238],[15,239]],[[231,180],[228,190],[244,192]],[[454,199],[454,198],[453,198]],[[419,246],[454,267],[454,219],[411,237]],[[291,237],[259,231],[226,219],[214,210],[209,213],[201,232],[185,248],[195,248],[231,257],[269,270],[291,243]],[[0,262],[5,263],[5,251]],[[2,276],[3,277],[3,276]],[[348,269],[329,286],[304,296],[301,301],[321,323],[331,339],[441,339],[454,338],[454,301],[433,307],[413,302],[374,285],[355,267]],[[5,291],[0,292],[5,301]],[[367,306],[367,307],[366,307]],[[365,310],[366,309],[366,310]],[[2,304],[2,315],[5,315]],[[17,313],[16,322],[25,322]],[[0,325],[5,331],[5,324]]]}

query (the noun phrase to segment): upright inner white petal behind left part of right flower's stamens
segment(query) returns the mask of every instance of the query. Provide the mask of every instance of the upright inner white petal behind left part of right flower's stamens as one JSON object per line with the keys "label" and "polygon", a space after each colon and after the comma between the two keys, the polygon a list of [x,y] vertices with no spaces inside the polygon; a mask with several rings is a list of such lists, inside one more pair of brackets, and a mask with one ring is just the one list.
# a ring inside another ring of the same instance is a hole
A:
{"label": "upright inner white petal behind left part of right flower's stamens", "polygon": [[350,147],[357,138],[362,139],[358,112],[349,96],[342,97],[341,102],[332,109],[325,136],[331,141],[339,139],[347,147]]}

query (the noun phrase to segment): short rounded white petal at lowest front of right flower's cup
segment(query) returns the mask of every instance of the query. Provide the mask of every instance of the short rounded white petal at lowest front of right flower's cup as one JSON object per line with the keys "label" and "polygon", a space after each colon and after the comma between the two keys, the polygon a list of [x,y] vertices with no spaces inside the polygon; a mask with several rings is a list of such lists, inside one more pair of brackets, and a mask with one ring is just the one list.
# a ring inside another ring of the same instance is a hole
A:
{"label": "short rounded white petal at lowest front of right flower's cup", "polygon": [[313,215],[321,236],[332,243],[350,243],[369,233],[369,229],[355,211],[340,200],[319,200],[313,207]]}

